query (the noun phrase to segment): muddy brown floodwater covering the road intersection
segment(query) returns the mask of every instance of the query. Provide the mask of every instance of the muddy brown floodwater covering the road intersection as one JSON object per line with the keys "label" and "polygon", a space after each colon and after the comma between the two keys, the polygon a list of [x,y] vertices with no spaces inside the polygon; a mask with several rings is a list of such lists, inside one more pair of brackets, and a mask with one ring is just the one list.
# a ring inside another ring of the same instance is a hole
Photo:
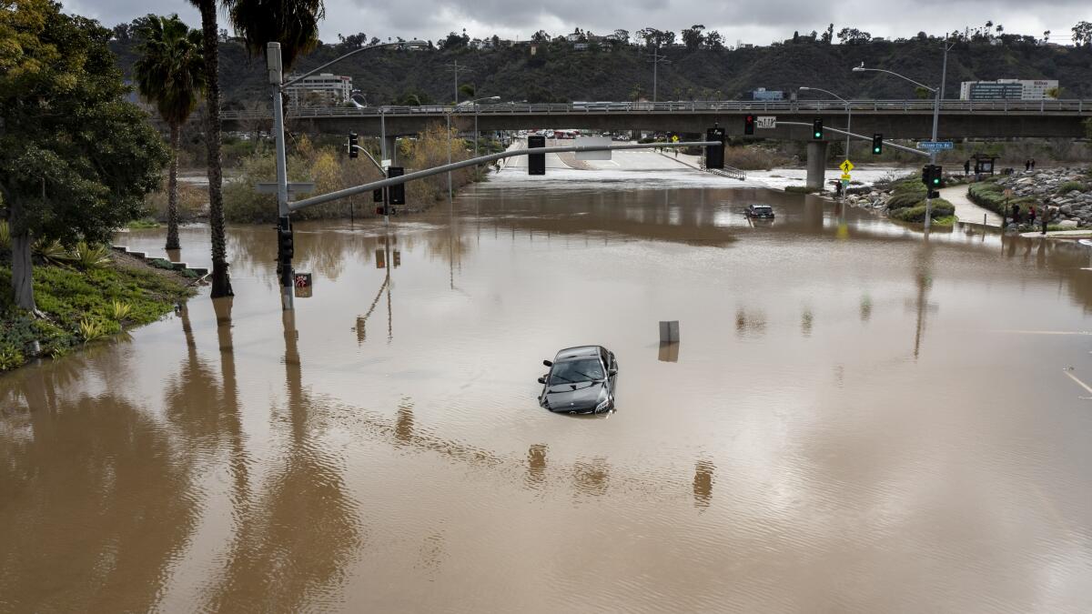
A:
{"label": "muddy brown floodwater covering the road intersection", "polygon": [[[0,612],[1092,610],[1092,250],[682,185],[299,224],[290,317],[232,228],[234,302],[0,377]],[[538,408],[585,343],[618,411]]]}

